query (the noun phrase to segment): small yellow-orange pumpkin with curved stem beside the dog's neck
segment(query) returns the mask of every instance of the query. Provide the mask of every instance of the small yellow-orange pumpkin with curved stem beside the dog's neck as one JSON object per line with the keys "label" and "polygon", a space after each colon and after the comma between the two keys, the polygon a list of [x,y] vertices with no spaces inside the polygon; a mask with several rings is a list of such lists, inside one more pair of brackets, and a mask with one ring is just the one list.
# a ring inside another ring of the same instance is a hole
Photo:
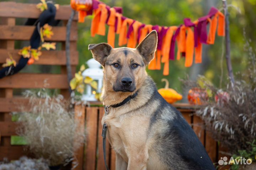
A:
{"label": "small yellow-orange pumpkin with curved stem beside the dog's neck", "polygon": [[166,78],[161,79],[161,82],[165,82],[165,88],[160,88],[158,92],[168,103],[174,103],[182,99],[181,94],[177,93],[174,89],[169,88],[169,81]]}

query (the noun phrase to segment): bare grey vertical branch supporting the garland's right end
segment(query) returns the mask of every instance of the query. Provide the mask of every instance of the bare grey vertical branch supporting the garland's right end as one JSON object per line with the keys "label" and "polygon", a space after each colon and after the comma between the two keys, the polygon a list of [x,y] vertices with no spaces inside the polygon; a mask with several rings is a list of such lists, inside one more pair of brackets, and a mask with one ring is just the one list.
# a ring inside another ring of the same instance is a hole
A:
{"label": "bare grey vertical branch supporting the garland's right end", "polygon": [[226,0],[222,0],[223,2],[223,9],[224,9],[224,15],[225,15],[225,38],[226,38],[226,64],[228,67],[228,73],[229,78],[231,81],[231,86],[234,86],[235,80],[234,80],[234,74],[232,70],[231,60],[230,60],[230,35],[229,35],[229,12],[227,7]]}

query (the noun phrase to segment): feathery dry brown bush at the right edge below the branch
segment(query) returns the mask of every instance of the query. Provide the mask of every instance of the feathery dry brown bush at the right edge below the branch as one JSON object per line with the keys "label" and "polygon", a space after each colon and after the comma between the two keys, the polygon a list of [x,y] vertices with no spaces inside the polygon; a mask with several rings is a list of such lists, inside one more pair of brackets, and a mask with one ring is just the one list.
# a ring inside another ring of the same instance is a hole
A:
{"label": "feathery dry brown bush at the right edge below the branch", "polygon": [[[230,155],[238,154],[239,150],[251,151],[250,142],[256,139],[256,58],[248,42],[245,46],[250,56],[248,70],[238,74],[240,79],[235,84],[219,89],[203,76],[197,81],[182,80],[186,88],[198,87],[209,93],[209,99],[198,106],[196,114],[202,117],[213,138],[229,149]],[[214,97],[221,91],[227,92],[229,99],[219,97],[216,102]]]}

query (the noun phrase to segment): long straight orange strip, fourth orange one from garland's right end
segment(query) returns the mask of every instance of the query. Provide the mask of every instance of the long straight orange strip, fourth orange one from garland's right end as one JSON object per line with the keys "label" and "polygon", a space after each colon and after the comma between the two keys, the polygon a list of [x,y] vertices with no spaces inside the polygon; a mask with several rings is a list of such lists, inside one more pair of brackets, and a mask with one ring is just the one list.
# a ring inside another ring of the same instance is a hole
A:
{"label": "long straight orange strip, fourth orange one from garland's right end", "polygon": [[193,64],[194,32],[190,27],[187,27],[186,29],[187,29],[187,39],[186,39],[185,67],[190,67]]}

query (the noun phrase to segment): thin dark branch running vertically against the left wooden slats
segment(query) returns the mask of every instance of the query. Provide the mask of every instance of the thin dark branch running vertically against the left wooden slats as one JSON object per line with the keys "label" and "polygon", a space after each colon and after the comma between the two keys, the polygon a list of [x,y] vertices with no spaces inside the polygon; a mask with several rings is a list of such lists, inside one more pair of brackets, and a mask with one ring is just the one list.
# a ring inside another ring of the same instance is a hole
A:
{"label": "thin dark branch running vertically against the left wooden slats", "polygon": [[[70,65],[70,29],[71,29],[71,24],[72,24],[74,16],[75,16],[75,10],[72,10],[71,16],[66,25],[66,69],[67,69],[67,74],[68,74],[68,84],[69,84],[70,80],[72,79],[72,70],[71,70],[71,65]],[[69,86],[69,93],[71,94],[71,92],[72,92],[72,90]]]}

